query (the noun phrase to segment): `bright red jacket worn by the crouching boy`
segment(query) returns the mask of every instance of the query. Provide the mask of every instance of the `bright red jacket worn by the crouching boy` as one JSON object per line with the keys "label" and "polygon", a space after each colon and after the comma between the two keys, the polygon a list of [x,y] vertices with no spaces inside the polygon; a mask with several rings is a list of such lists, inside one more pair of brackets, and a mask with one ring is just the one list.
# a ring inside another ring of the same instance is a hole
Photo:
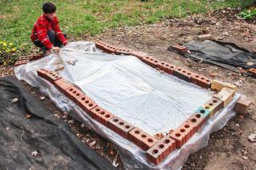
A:
{"label": "bright red jacket worn by the crouching boy", "polygon": [[46,18],[44,14],[42,14],[38,18],[38,21],[34,23],[34,28],[30,36],[32,42],[38,40],[39,42],[42,42],[47,49],[51,49],[54,45],[50,42],[47,36],[49,30],[54,30],[58,40],[61,41],[63,45],[66,45],[67,39],[64,37],[62,30],[58,26],[57,16],[54,17],[53,20],[50,20]]}

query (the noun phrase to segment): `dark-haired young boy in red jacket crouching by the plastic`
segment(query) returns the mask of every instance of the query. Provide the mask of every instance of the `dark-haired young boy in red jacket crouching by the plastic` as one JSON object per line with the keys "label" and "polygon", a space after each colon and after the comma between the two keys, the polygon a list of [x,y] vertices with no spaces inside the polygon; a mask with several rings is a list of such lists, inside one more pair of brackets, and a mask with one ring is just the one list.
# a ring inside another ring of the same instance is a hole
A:
{"label": "dark-haired young boy in red jacket crouching by the plastic", "polygon": [[67,45],[66,34],[62,33],[58,26],[58,18],[55,14],[56,6],[46,2],[42,6],[43,14],[35,22],[30,36],[34,45],[46,53],[59,52],[61,45]]}

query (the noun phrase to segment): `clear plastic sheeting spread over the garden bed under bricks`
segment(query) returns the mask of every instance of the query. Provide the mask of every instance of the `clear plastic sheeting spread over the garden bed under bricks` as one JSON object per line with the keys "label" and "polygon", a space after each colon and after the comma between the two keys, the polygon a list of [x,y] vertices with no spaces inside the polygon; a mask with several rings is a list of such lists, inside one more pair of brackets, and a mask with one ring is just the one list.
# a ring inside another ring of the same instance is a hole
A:
{"label": "clear plastic sheeting spread over the garden bed under bricks", "polygon": [[[64,69],[63,69],[64,67]],[[38,87],[64,112],[72,114],[118,146],[126,168],[177,169],[192,152],[206,146],[210,132],[222,128],[234,116],[234,101],[211,118],[206,127],[177,149],[162,164],[146,160],[146,152],[91,119],[49,81],[38,77],[37,69],[58,70],[66,80],[77,85],[102,108],[154,135],[178,128],[194,110],[210,100],[212,93],[177,77],[160,73],[133,56],[103,53],[93,42],[73,42],[60,53],[14,69],[16,77]]]}

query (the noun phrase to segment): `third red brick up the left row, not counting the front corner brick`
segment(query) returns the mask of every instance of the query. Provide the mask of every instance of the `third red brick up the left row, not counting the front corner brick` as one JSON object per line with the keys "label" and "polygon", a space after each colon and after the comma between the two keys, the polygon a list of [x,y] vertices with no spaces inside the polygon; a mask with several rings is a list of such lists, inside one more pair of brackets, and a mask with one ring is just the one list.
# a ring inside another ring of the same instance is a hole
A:
{"label": "third red brick up the left row, not counting the front corner brick", "polygon": [[102,109],[97,106],[90,111],[91,117],[93,117],[96,121],[102,123],[102,125],[108,126],[108,121],[114,117],[114,114],[106,111],[106,109]]}

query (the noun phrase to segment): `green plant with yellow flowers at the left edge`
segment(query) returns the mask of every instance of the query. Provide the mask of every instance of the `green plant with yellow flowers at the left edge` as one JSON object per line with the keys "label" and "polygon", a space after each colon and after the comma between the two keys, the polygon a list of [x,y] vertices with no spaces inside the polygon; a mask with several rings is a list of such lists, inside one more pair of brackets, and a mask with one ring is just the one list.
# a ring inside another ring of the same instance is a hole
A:
{"label": "green plant with yellow flowers at the left edge", "polygon": [[16,58],[16,48],[12,42],[0,42],[0,65],[13,64]]}

